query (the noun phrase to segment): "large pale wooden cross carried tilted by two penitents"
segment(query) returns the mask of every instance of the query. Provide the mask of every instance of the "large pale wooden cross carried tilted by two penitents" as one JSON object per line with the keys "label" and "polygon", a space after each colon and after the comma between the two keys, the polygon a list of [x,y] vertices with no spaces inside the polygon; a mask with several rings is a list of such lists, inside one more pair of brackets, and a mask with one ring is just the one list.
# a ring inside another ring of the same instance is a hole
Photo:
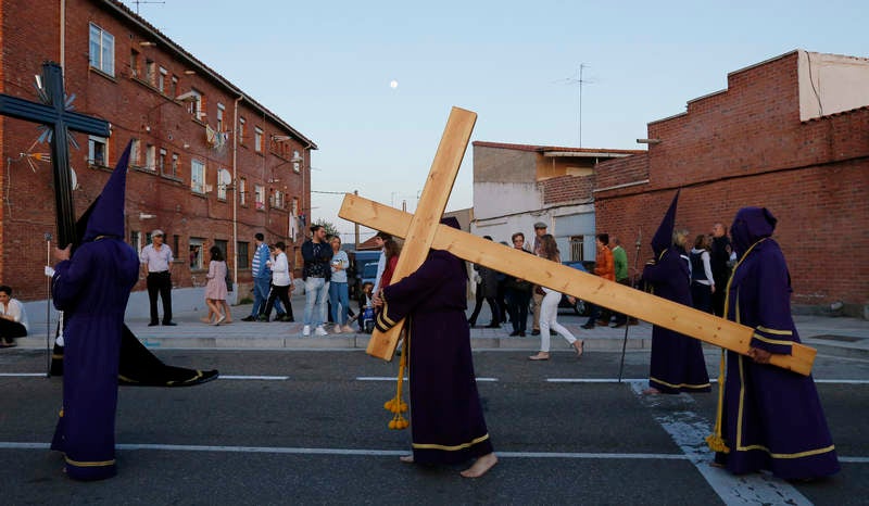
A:
{"label": "large pale wooden cross carried tilted by two penitents", "polygon": [[[406,238],[393,280],[398,281],[416,270],[425,261],[429,248],[445,250],[468,262],[542,284],[743,355],[747,354],[754,333],[751,327],[440,225],[439,219],[446,205],[476,117],[473,112],[453,107],[416,214],[403,213],[350,193],[344,195],[339,216]],[[380,333],[375,330],[367,353],[391,360],[400,330],[400,325],[393,327],[390,332]],[[817,353],[814,349],[794,343],[791,353],[791,355],[772,355],[770,363],[801,375],[807,376],[811,372]]]}

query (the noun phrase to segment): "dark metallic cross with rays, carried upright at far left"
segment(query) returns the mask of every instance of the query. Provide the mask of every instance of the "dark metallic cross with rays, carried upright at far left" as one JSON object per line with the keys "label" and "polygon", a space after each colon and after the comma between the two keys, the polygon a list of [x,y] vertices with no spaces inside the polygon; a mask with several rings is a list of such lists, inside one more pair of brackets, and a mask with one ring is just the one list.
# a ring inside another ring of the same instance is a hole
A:
{"label": "dark metallic cross with rays, carried upright at far left", "polygon": [[58,245],[65,248],[76,240],[73,185],[70,173],[68,130],[109,137],[110,124],[104,119],[66,110],[63,69],[54,62],[42,64],[43,102],[37,103],[0,93],[0,114],[46,125],[51,136],[51,165],[54,172],[54,201],[58,210]]}

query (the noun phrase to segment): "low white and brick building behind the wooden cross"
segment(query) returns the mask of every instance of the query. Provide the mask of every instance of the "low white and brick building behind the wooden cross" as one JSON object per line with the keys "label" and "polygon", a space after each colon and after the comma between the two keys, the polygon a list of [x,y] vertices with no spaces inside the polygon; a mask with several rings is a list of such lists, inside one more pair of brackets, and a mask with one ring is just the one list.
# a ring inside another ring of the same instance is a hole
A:
{"label": "low white and brick building behind the wooden cross", "polygon": [[474,142],[470,231],[509,243],[545,223],[563,261],[594,261],[595,165],[644,151]]}

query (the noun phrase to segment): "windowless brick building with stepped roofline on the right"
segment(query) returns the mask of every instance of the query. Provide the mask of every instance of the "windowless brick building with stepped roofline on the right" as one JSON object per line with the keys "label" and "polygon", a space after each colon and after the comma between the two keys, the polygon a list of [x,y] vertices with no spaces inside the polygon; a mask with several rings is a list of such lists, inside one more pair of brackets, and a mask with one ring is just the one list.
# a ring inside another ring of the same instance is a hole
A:
{"label": "windowless brick building with stepped roofline on the right", "polygon": [[648,151],[597,166],[596,228],[640,266],[677,189],[692,236],[743,206],[778,217],[795,305],[869,304],[869,60],[792,51],[728,75],[726,90],[648,124]]}

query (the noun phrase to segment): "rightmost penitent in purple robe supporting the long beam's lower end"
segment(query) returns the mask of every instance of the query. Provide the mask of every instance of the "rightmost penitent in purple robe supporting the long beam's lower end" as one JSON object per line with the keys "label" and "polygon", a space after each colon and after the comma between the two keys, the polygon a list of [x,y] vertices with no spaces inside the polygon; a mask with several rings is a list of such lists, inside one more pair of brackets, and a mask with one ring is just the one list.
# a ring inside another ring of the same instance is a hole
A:
{"label": "rightmost penitent in purple robe supporting the long beam's lower end", "polygon": [[[799,342],[791,317],[791,279],[776,218],[766,208],[740,210],[731,228],[740,262],[727,294],[728,319],[755,329],[751,346],[789,355]],[[786,480],[839,471],[815,380],[728,352],[722,435],[729,453],[716,460],[741,475],[768,469]]]}

